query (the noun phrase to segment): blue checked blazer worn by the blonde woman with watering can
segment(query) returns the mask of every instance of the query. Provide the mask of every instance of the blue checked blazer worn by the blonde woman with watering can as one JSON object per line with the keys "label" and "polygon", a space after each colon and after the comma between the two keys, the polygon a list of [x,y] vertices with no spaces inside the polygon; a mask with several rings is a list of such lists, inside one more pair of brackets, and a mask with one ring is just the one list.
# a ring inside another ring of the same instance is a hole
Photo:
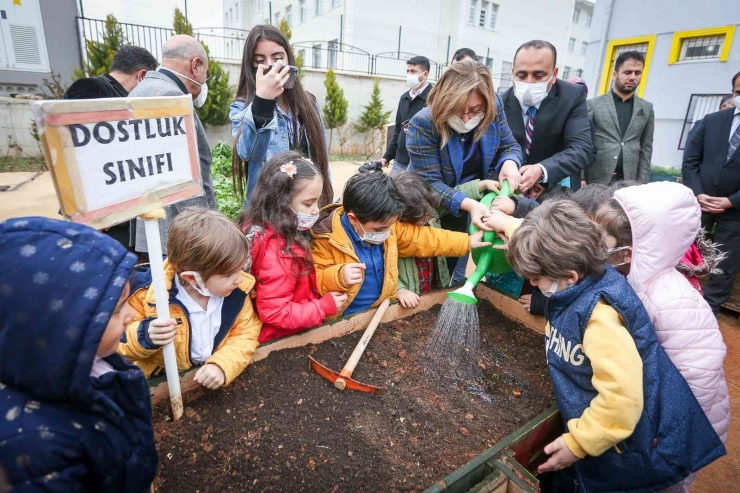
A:
{"label": "blue checked blazer worn by the blonde woman with watering can", "polygon": [[[409,152],[409,170],[419,173],[440,197],[441,205],[455,216],[460,215],[460,204],[467,198],[455,190],[460,184],[463,168],[463,151],[460,136],[453,133],[447,145],[441,147],[442,137],[434,126],[432,112],[427,107],[409,122],[406,149]],[[496,96],[496,120],[481,138],[483,176],[489,175],[491,164],[498,171],[504,161],[512,160],[522,165],[522,149],[511,134],[506,121],[504,105]]]}

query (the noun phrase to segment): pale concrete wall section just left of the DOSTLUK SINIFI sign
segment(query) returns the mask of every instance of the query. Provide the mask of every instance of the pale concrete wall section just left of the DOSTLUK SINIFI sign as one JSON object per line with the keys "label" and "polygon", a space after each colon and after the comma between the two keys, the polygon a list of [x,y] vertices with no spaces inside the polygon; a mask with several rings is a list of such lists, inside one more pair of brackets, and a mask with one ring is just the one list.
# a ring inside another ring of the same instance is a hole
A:
{"label": "pale concrete wall section just left of the DOSTLUK SINIFI sign", "polygon": [[28,101],[0,97],[0,156],[40,157],[31,135],[33,112]]}

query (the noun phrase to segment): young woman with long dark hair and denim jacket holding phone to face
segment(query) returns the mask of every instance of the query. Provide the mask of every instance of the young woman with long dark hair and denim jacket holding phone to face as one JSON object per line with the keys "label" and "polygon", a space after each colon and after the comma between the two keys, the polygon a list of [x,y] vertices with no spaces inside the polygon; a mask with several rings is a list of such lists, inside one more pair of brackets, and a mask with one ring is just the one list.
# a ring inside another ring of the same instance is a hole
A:
{"label": "young woman with long dark hair and denim jacket holding phone to face", "polygon": [[321,170],[319,205],[330,204],[329,153],[316,98],[298,80],[293,51],[279,29],[255,26],[244,44],[236,100],[231,103],[232,171],[246,208],[260,170],[275,154],[295,150]]}

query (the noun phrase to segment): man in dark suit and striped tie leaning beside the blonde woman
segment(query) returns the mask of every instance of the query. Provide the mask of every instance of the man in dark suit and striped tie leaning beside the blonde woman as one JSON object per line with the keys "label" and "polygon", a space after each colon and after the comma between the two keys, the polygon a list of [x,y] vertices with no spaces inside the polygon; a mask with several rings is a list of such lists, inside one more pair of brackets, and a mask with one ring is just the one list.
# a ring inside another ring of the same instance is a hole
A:
{"label": "man in dark suit and striped tie leaning beside the blonde woman", "polygon": [[559,80],[556,64],[551,43],[524,43],[514,55],[514,86],[503,95],[506,119],[524,151],[522,191],[564,179],[577,190],[581,170],[594,160],[586,90]]}

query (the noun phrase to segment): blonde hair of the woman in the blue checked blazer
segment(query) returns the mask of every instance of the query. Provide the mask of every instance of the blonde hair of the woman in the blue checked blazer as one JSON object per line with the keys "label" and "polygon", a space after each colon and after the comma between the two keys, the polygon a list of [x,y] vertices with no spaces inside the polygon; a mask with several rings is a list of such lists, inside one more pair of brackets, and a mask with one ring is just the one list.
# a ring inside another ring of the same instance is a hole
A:
{"label": "blonde hair of the woman in the blue checked blazer", "polygon": [[450,65],[427,97],[427,105],[432,112],[434,126],[442,137],[444,147],[452,137],[452,129],[447,120],[460,116],[465,111],[468,95],[477,92],[486,105],[483,121],[475,129],[475,140],[480,140],[488,126],[497,120],[496,94],[491,73],[485,65],[471,60],[463,60]]}

